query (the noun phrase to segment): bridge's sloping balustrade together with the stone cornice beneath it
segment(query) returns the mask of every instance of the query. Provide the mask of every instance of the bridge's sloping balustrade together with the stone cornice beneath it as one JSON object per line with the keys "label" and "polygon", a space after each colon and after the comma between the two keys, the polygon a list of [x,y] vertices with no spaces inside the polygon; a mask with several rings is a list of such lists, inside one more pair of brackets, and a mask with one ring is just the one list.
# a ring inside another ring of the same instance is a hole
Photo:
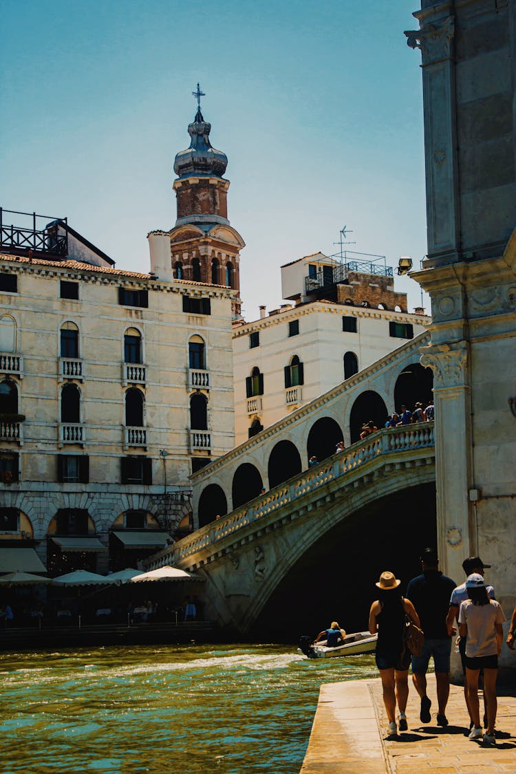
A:
{"label": "bridge's sloping balustrade together with the stone cornice beneath it", "polygon": [[[333,488],[359,485],[361,478],[365,479],[374,473],[374,461],[378,462],[378,467],[390,464],[404,467],[412,462],[422,464],[433,446],[433,422],[378,430],[216,522],[197,529],[174,546],[155,554],[145,566],[153,569],[163,564],[175,564],[193,569],[200,556],[203,557],[203,564],[205,560],[210,561],[209,555],[213,557],[219,550],[224,551],[228,539],[247,540],[248,528],[252,528],[254,523],[257,528],[258,522],[260,526],[261,522],[267,522],[267,526],[270,526],[275,514],[278,519],[289,521],[296,509],[310,509],[328,485]],[[285,506],[291,507],[287,511]]]}

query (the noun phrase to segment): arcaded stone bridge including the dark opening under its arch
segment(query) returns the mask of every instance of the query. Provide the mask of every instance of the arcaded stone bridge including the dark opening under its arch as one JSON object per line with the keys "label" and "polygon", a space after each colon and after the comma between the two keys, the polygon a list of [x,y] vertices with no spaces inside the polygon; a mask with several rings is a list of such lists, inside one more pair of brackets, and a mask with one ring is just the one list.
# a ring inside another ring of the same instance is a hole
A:
{"label": "arcaded stone bridge including the dark opening under its arch", "polygon": [[[432,375],[419,365],[428,341],[413,339],[196,473],[200,528],[145,566],[204,577],[205,615],[242,635],[292,639],[292,626],[299,634],[326,618],[365,628],[381,570],[408,581],[436,541],[434,426],[354,438],[362,423],[383,428],[402,403],[429,399]],[[347,448],[336,454],[339,440]]]}

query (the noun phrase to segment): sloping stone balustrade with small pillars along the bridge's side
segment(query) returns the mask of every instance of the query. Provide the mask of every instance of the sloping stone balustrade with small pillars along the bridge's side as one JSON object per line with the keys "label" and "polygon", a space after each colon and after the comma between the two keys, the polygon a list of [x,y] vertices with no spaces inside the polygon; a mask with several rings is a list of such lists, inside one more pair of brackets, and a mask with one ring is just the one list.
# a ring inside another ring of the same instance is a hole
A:
{"label": "sloping stone balustrade with small pillars along the bridge's side", "polygon": [[255,498],[226,516],[217,519],[205,527],[197,529],[191,536],[179,540],[172,548],[165,549],[153,558],[158,567],[163,559],[169,563],[179,563],[207,546],[217,543],[233,533],[237,533],[251,522],[258,521],[272,511],[282,508],[289,502],[316,491],[328,481],[341,478],[356,471],[367,462],[384,455],[404,451],[413,451],[434,445],[434,423],[422,422],[403,427],[391,427],[378,430],[364,440],[359,440],[343,452],[333,454],[320,464],[309,467],[289,481]]}

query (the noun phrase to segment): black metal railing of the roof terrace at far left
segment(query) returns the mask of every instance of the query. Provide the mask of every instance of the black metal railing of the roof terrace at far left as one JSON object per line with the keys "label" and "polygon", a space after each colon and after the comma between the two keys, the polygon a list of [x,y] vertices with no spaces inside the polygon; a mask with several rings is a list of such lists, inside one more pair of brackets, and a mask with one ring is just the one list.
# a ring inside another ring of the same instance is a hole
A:
{"label": "black metal railing of the roof terrace at far left", "polygon": [[[5,216],[11,220],[11,215],[22,215],[29,220],[26,224],[15,225],[6,223]],[[48,225],[46,221],[52,221]],[[68,235],[59,233],[56,221],[67,224],[67,218],[55,218],[37,215],[35,212],[18,212],[0,207],[0,251],[16,252],[32,250],[53,255],[68,255]]]}

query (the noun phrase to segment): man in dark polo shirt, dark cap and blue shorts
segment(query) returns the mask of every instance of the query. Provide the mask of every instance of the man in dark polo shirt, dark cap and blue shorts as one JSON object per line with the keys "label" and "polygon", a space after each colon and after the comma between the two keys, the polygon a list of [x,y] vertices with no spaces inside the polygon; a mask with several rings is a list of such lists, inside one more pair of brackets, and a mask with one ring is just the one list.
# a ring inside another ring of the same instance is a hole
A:
{"label": "man in dark polo shirt, dark cap and blue shorts", "polygon": [[446,615],[455,581],[438,569],[436,550],[425,548],[420,560],[422,575],[412,578],[405,594],[414,605],[421,619],[421,628],[425,632],[425,645],[421,656],[412,656],[412,681],[421,698],[419,719],[422,723],[429,723],[432,702],[426,695],[426,672],[432,656],[436,669],[437,724],[447,726],[446,704],[449,697],[449,655],[452,639],[448,635]]}

